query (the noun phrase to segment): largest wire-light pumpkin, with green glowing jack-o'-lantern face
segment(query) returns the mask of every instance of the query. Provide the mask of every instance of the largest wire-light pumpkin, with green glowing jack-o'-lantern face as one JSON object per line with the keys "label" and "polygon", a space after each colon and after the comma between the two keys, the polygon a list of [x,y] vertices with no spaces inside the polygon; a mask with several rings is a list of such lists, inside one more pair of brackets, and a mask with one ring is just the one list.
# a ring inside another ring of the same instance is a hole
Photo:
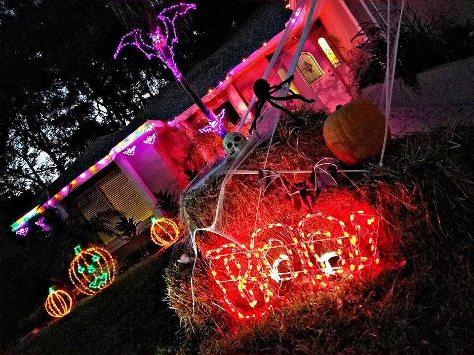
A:
{"label": "largest wire-light pumpkin, with green glowing jack-o'-lantern face", "polygon": [[114,281],[115,262],[106,249],[93,247],[80,250],[77,246],[75,251],[69,278],[80,292],[92,296]]}

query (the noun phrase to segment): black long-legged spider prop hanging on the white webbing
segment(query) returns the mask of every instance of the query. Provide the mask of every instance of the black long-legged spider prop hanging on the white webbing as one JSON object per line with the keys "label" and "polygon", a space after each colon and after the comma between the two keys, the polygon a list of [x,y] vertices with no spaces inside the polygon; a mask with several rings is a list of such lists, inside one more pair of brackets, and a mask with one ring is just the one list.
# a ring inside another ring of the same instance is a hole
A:
{"label": "black long-legged spider prop hanging on the white webbing", "polygon": [[291,81],[293,81],[293,79],[294,79],[294,75],[291,75],[286,80],[284,80],[284,81],[280,82],[278,85],[274,85],[274,86],[270,86],[268,81],[265,80],[265,79],[257,79],[253,83],[253,92],[255,93],[255,96],[257,97],[258,100],[257,100],[257,103],[255,104],[255,118],[252,121],[252,125],[250,126],[250,129],[248,131],[249,133],[252,133],[253,131],[255,131],[257,129],[257,120],[260,117],[260,113],[262,112],[262,108],[263,108],[263,106],[265,105],[265,103],[267,101],[270,105],[282,110],[283,112],[286,112],[287,114],[289,114],[290,116],[292,116],[294,118],[298,118],[298,117],[296,117],[293,113],[291,113],[291,111],[289,111],[285,107],[274,103],[272,100],[286,101],[286,100],[296,99],[296,100],[304,101],[304,102],[309,103],[309,104],[315,102],[314,99],[309,100],[309,99],[305,98],[302,95],[295,94],[291,90],[288,90],[291,93],[291,95],[288,95],[288,96],[282,96],[282,97],[272,96],[272,94],[275,94],[279,89],[281,89],[283,87],[283,85],[290,83]]}

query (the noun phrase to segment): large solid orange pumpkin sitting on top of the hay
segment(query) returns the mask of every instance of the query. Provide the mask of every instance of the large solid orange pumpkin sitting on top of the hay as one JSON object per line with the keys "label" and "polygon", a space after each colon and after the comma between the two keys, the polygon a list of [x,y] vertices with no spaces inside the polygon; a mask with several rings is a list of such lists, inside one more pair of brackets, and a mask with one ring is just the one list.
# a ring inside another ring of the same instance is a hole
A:
{"label": "large solid orange pumpkin sitting on top of the hay", "polygon": [[333,112],[323,127],[327,147],[349,165],[359,165],[380,156],[384,134],[384,114],[363,99],[353,100]]}

